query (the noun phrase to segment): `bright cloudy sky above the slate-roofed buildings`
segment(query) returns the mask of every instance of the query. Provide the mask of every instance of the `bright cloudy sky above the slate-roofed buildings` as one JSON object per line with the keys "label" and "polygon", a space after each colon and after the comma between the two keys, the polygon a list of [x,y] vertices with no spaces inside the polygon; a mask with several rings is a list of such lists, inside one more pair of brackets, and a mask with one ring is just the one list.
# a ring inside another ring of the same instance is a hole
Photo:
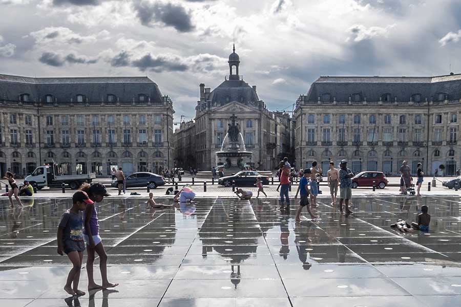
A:
{"label": "bright cloudy sky above the slate-roofed buildings", "polygon": [[319,76],[461,73],[459,0],[0,0],[0,73],[149,76],[190,120],[239,72],[271,110]]}

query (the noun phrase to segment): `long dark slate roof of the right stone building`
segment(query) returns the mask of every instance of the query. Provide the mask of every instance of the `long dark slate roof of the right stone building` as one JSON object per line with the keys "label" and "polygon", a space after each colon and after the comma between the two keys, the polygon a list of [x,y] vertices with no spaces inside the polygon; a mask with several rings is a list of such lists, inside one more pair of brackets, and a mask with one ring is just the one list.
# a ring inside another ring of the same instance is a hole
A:
{"label": "long dark slate roof of the right stone building", "polygon": [[390,94],[392,100],[409,101],[414,94],[420,94],[421,100],[436,99],[439,93],[448,95],[448,100],[461,98],[461,74],[436,77],[330,77],[322,76],[312,83],[304,101],[318,101],[323,94],[331,99],[348,101],[349,96],[360,94],[367,101],[379,101],[384,94]]}

